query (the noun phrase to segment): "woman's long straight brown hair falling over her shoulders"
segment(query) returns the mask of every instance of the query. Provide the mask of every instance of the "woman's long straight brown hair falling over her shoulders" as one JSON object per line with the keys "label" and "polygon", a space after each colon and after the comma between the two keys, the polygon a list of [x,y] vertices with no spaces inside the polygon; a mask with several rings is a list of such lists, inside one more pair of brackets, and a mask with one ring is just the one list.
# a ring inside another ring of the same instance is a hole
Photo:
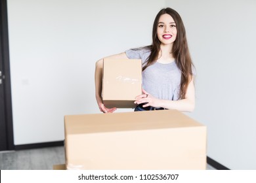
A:
{"label": "woman's long straight brown hair falling over her shoulders", "polygon": [[161,42],[158,39],[157,30],[158,22],[162,14],[169,14],[176,23],[177,37],[175,39],[175,42],[173,42],[173,50],[171,50],[171,53],[175,58],[177,67],[179,67],[179,69],[181,70],[181,86],[179,92],[179,99],[184,99],[188,84],[192,80],[192,67],[194,67],[194,65],[192,63],[192,59],[188,50],[188,42],[186,41],[186,30],[182,22],[181,16],[172,8],[163,8],[156,15],[152,31],[152,45],[146,46],[151,51],[151,53],[146,61],[146,65],[144,65],[144,67],[142,68],[142,71],[144,71],[146,67],[155,63],[158,59],[158,54],[161,50]]}

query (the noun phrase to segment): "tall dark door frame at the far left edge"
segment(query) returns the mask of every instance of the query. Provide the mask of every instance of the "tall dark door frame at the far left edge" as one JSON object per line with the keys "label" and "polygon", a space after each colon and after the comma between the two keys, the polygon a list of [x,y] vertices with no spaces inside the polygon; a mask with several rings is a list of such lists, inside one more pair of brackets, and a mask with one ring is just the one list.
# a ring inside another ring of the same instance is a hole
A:
{"label": "tall dark door frame at the far left edge", "polygon": [[1,0],[0,3],[0,62],[2,65],[3,80],[3,110],[4,121],[0,121],[5,131],[5,138],[1,138],[0,144],[5,144],[0,150],[14,150],[14,137],[12,125],[12,98],[11,98],[11,73],[9,59],[9,35],[8,35],[8,16],[7,16],[7,0]]}

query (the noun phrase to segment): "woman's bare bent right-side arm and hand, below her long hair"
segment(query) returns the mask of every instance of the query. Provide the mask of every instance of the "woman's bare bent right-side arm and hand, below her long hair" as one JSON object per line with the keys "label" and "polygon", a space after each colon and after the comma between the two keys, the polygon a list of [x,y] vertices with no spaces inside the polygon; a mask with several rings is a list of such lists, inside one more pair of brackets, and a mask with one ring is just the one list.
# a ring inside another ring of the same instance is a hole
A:
{"label": "woman's bare bent right-side arm and hand, below her long hair", "polygon": [[194,88],[194,76],[192,76],[192,80],[188,84],[188,88],[186,90],[186,96],[184,99],[177,100],[177,101],[170,101],[170,100],[161,100],[156,99],[150,93],[146,91],[142,91],[144,94],[139,95],[136,97],[135,103],[147,103],[143,105],[143,107],[163,107],[168,109],[177,109],[182,112],[192,112],[195,108],[195,88]]}

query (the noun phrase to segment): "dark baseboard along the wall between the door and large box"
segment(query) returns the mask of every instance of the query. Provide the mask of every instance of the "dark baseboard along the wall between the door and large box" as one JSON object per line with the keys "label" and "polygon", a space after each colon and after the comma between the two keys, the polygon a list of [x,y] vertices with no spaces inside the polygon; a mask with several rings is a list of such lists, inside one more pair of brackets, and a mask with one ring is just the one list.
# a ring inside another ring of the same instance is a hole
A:
{"label": "dark baseboard along the wall between the door and large box", "polygon": [[48,148],[48,147],[54,147],[54,146],[64,146],[64,141],[16,145],[16,146],[14,146],[14,150],[26,150],[26,149],[33,149],[33,148]]}

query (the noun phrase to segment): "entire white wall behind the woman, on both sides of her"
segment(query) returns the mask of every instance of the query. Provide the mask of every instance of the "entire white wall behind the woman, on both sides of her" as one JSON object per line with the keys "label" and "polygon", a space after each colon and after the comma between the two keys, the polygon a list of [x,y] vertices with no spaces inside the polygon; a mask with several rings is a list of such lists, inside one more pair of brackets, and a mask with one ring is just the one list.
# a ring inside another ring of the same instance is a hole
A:
{"label": "entire white wall behind the woman, on both sides of her", "polygon": [[[208,156],[256,169],[256,1],[8,0],[14,143],[62,141],[63,116],[99,112],[95,61],[151,43],[160,8],[186,26]],[[119,110],[120,111],[120,110]]]}

